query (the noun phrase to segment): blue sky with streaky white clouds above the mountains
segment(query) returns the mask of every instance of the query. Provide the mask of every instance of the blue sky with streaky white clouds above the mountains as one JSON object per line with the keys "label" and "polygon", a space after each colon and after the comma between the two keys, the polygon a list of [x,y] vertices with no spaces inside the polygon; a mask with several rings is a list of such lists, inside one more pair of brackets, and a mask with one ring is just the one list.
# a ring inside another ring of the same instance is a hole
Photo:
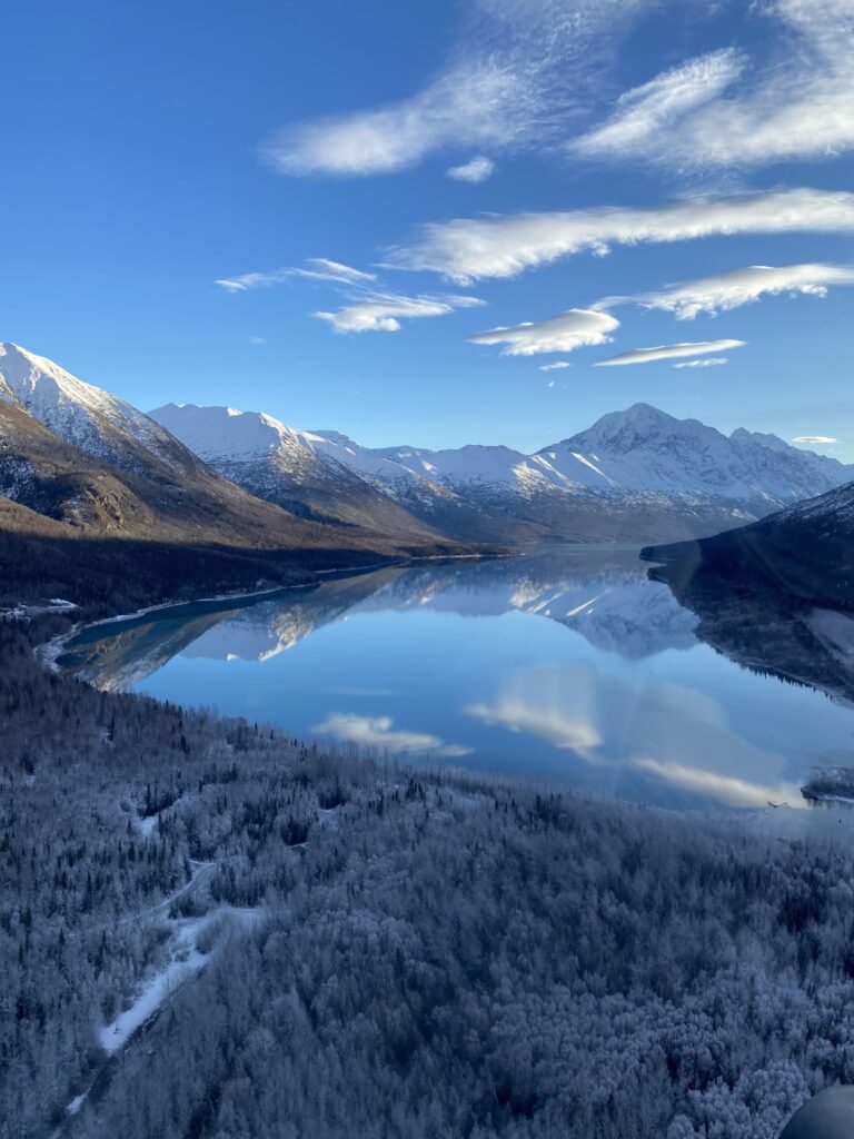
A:
{"label": "blue sky with streaky white clouds above the mountains", "polygon": [[373,445],[529,450],[644,400],[854,460],[851,0],[83,0],[5,32],[1,338]]}

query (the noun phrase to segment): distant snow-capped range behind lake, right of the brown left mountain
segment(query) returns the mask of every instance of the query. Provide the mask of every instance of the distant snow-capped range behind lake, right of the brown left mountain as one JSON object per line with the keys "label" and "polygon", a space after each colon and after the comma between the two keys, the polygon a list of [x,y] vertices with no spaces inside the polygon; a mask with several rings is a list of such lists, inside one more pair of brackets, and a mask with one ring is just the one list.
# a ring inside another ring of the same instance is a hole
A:
{"label": "distant snow-capped range behind lake, right of the brown left mountain", "polygon": [[[393,500],[434,531],[479,540],[697,536],[854,477],[854,468],[773,435],[726,436],[644,403],[534,454],[479,444],[367,448],[337,431],[225,408],[169,404],[151,416],[222,474],[288,509],[302,503],[310,516],[350,521]],[[348,500],[355,514],[343,513]]]}

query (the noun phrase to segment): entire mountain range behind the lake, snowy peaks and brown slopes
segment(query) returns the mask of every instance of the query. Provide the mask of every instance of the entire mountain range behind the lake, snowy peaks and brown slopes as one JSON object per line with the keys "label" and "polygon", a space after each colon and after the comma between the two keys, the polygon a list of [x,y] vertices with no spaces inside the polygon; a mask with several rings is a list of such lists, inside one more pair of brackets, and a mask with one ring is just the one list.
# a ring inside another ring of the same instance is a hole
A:
{"label": "entire mountain range behind the lake, snowy peaks and brown slopes", "polygon": [[668,542],[834,491],[854,467],[646,403],[533,454],[362,446],[263,412],[146,415],[0,345],[0,524],[52,536],[278,555],[303,565],[483,552],[483,544]]}

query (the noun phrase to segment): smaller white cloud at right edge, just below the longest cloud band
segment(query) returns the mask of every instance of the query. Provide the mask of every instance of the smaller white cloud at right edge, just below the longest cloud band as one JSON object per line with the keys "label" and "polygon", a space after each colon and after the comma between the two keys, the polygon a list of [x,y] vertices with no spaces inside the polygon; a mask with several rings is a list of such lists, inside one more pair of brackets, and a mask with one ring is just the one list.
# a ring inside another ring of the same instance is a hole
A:
{"label": "smaller white cloud at right edge, just below the longest cloud band", "polygon": [[802,293],[824,296],[830,285],[853,285],[854,269],[845,265],[748,265],[731,272],[675,285],[658,293],[637,297],[647,309],[663,309],[679,320],[692,320],[698,313],[714,316],[741,304],[758,301],[763,294]]}

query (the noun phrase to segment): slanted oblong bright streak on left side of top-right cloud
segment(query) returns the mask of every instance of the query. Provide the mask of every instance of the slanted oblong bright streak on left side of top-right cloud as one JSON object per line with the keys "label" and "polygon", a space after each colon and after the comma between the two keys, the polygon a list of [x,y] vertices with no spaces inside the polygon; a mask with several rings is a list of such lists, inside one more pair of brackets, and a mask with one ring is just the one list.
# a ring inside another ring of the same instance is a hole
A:
{"label": "slanted oblong bright streak on left side of top-right cloud", "polygon": [[733,48],[689,59],[622,95],[608,122],[575,139],[570,149],[598,157],[646,147],[674,118],[711,103],[730,87],[744,65]]}

